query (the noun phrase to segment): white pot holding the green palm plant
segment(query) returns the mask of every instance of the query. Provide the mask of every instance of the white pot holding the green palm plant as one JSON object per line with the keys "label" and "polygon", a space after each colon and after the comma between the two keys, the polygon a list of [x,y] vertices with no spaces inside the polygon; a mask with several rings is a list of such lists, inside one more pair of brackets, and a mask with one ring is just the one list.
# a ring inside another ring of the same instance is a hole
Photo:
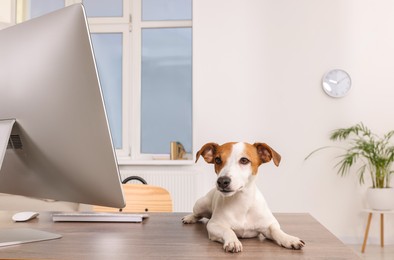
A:
{"label": "white pot holding the green palm plant", "polygon": [[374,210],[394,209],[394,188],[367,190],[367,203],[369,208]]}

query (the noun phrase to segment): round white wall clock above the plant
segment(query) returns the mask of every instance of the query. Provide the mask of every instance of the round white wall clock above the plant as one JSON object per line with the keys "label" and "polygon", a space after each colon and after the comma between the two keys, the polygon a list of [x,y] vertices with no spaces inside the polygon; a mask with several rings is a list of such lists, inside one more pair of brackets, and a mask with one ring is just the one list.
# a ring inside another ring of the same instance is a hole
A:
{"label": "round white wall clock above the plant", "polygon": [[323,77],[323,90],[331,97],[345,96],[352,86],[349,74],[340,69],[327,72]]}

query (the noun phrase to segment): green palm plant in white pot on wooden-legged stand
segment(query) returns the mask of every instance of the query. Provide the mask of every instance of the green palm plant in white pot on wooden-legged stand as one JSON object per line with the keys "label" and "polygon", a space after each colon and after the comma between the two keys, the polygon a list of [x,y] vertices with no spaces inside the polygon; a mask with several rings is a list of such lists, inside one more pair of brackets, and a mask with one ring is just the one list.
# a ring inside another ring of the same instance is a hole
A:
{"label": "green palm plant in white pot on wooden-legged stand", "polygon": [[[330,135],[332,141],[348,141],[348,148],[339,156],[340,161],[336,165],[338,174],[346,176],[353,168],[357,168],[360,184],[364,184],[366,175],[370,176],[372,187],[367,190],[367,202],[372,209],[394,208],[394,189],[390,187],[394,161],[394,145],[390,143],[390,139],[393,135],[394,131],[390,131],[380,137],[363,123],[336,129]],[[313,151],[305,159],[325,148],[328,147]]]}

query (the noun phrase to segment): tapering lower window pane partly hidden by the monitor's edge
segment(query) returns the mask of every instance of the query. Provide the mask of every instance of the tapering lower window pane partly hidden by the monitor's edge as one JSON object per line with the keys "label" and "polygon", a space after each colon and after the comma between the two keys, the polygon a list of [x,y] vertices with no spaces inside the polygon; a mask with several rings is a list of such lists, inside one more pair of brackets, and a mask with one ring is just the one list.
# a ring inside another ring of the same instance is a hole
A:
{"label": "tapering lower window pane partly hidden by the monitor's edge", "polygon": [[122,34],[93,33],[101,88],[112,139],[116,149],[122,148]]}

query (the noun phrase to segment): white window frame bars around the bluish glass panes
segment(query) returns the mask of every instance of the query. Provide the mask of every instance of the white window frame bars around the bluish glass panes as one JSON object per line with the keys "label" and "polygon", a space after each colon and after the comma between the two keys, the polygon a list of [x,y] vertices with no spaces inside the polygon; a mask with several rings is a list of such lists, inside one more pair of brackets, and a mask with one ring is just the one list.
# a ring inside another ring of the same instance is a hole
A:
{"label": "white window frame bars around the bluish glass panes", "polygon": [[[82,0],[64,0],[65,6]],[[192,28],[192,20],[142,21],[142,0],[123,0],[123,16],[88,18],[91,33],[121,33],[122,57],[122,148],[116,149],[119,165],[185,165],[190,160],[154,160],[157,154],[141,153],[141,32],[145,28]],[[13,6],[13,13],[16,5]],[[194,102],[192,102],[194,103]],[[192,109],[193,111],[193,109]],[[193,120],[193,119],[192,119]],[[192,144],[194,134],[192,131]]]}

